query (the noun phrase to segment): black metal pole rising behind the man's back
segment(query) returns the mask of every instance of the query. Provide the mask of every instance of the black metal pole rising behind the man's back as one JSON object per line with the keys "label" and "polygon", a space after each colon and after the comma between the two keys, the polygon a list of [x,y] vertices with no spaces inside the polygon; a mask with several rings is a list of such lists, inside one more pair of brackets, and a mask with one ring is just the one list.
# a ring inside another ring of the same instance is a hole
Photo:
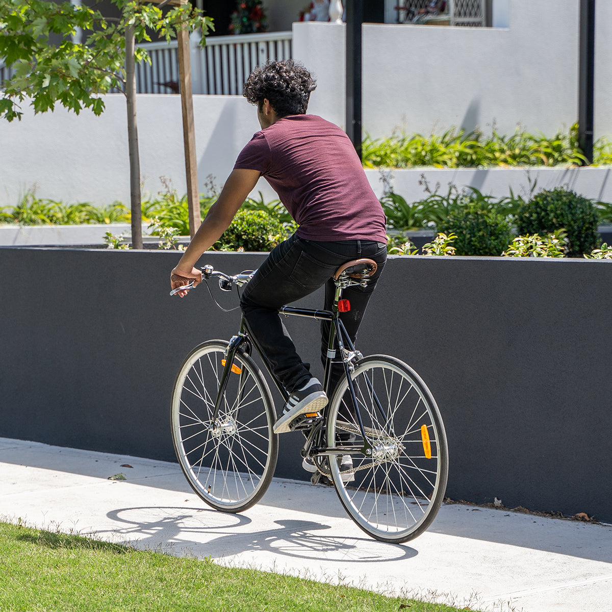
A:
{"label": "black metal pole rising behind the man's back", "polygon": [[361,159],[361,24],[363,0],[346,0],[346,133]]}

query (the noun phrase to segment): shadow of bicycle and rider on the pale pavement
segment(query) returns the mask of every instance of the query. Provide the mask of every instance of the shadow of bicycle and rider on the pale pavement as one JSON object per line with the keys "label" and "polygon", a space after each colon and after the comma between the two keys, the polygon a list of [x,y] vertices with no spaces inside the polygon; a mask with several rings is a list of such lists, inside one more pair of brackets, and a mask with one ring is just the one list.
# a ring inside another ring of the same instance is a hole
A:
{"label": "shadow of bicycle and rider on the pale pavement", "polygon": [[125,542],[172,554],[231,558],[267,552],[349,563],[400,561],[418,554],[414,548],[403,545],[324,534],[321,532],[327,532],[331,526],[310,520],[278,520],[274,521],[274,528],[253,531],[248,529],[253,521],[244,515],[198,508],[133,507],[111,510],[106,516],[119,523],[118,528],[109,532]]}

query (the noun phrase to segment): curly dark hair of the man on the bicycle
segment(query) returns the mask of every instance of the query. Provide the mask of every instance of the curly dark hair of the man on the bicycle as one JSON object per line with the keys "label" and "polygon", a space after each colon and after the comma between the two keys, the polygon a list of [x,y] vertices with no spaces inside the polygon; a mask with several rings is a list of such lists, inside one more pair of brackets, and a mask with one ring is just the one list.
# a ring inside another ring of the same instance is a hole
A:
{"label": "curly dark hair of the man on the bicycle", "polygon": [[279,117],[305,114],[316,81],[302,64],[285,59],[256,66],[244,84],[244,97],[261,108],[268,99]]}

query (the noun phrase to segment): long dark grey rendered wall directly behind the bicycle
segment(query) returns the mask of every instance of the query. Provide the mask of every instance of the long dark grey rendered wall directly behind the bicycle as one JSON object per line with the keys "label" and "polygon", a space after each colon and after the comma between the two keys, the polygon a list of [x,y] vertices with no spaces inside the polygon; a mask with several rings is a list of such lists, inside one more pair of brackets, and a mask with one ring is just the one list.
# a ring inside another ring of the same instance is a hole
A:
{"label": "long dark grey rendered wall directly behind the bicycle", "polygon": [[[203,286],[168,296],[177,258],[0,248],[0,436],[174,460],[176,371],[238,321]],[[201,263],[235,273],[262,259],[210,253]],[[612,521],[611,288],[606,261],[389,260],[359,348],[405,360],[438,400],[450,498]],[[317,326],[288,323],[318,368]],[[280,439],[277,476],[306,479],[301,435]]]}

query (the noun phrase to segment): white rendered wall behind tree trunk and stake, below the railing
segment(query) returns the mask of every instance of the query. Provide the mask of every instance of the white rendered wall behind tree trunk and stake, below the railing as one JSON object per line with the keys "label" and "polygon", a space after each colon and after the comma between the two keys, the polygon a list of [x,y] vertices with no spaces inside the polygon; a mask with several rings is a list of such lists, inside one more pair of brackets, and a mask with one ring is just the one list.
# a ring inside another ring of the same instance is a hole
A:
{"label": "white rendered wall behind tree trunk and stake, below the railing", "polygon": [[[122,94],[106,95],[99,117],[63,108],[21,121],[0,122],[0,206],[13,206],[36,185],[37,196],[72,203],[129,206],[127,111]],[[178,95],[138,95],[138,140],[143,192],[162,189],[160,176],[187,191]],[[237,153],[259,130],[255,106],[241,96],[196,95],[196,158],[200,190],[209,174],[220,187]]]}

